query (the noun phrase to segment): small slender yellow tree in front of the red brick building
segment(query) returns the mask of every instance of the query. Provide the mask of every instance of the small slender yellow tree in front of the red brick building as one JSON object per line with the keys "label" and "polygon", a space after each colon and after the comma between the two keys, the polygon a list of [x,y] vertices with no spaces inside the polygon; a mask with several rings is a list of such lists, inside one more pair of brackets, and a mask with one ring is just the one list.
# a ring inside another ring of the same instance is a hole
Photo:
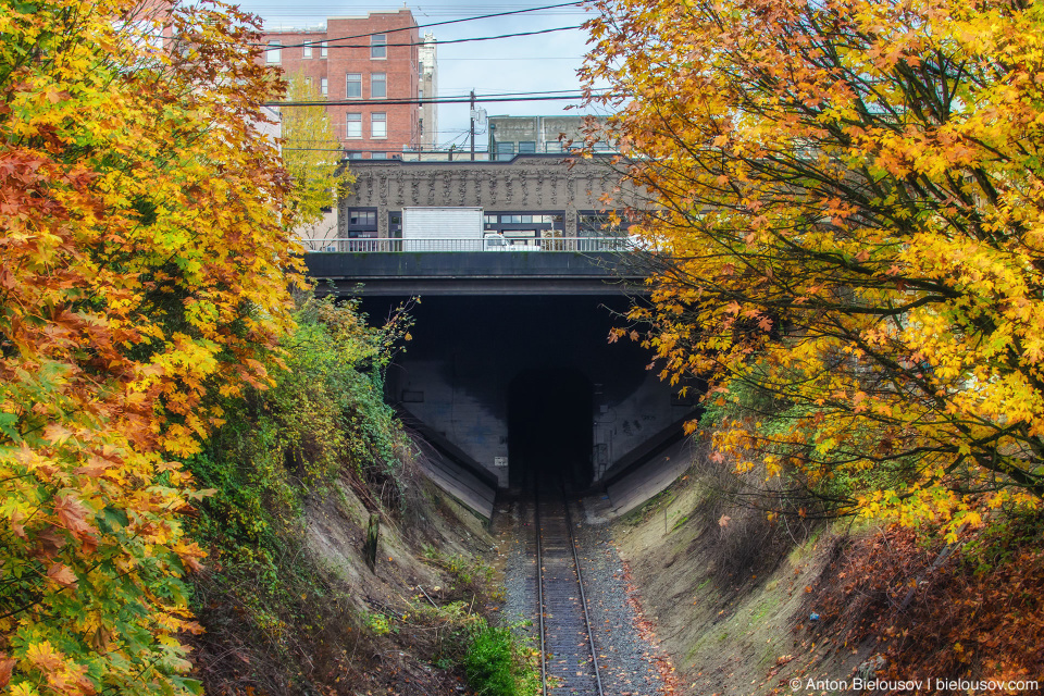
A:
{"label": "small slender yellow tree in front of the red brick building", "polygon": [[[290,77],[288,102],[325,101],[302,73]],[[355,181],[343,165],[344,149],[334,137],[330,114],[321,105],[281,107],[283,160],[294,181],[294,206],[299,221],[297,234],[309,240],[336,237],[336,219],[324,211],[348,194]]]}

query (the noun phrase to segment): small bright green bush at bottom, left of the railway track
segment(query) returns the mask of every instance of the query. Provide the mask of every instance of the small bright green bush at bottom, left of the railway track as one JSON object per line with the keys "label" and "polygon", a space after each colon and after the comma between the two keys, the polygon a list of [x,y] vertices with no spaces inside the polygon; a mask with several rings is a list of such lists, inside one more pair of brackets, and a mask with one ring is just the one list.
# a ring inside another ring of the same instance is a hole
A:
{"label": "small bright green bush at bottom, left of the railway track", "polygon": [[464,656],[468,682],[481,696],[533,696],[540,688],[534,657],[511,629],[484,626]]}

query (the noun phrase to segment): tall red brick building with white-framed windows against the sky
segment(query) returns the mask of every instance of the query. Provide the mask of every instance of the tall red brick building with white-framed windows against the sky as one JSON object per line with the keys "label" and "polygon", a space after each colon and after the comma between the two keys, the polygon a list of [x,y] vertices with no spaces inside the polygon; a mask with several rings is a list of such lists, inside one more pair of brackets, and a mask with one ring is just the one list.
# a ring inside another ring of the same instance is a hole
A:
{"label": "tall red brick building with white-framed windows against the sky", "polygon": [[[325,28],[266,32],[263,41],[264,60],[287,79],[301,73],[326,99],[357,102],[326,108],[349,158],[388,159],[420,148],[421,40],[409,10],[330,17]],[[402,100],[414,103],[396,103]]]}

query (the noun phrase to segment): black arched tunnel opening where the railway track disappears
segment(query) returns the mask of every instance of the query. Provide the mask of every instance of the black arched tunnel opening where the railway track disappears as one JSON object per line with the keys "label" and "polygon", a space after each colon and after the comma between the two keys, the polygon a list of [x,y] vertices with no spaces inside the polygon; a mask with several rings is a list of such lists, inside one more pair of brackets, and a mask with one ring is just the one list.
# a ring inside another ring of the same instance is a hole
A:
{"label": "black arched tunnel opening where the railway track disappears", "polygon": [[580,490],[594,477],[594,388],[577,370],[524,370],[508,387],[508,464],[512,488],[533,483]]}

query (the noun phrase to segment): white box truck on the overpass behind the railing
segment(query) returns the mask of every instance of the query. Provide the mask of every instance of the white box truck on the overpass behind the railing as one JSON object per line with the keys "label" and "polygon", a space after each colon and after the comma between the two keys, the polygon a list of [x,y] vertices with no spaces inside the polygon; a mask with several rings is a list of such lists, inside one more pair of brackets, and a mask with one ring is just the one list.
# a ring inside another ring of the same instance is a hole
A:
{"label": "white box truck on the overpass behind the railing", "polygon": [[[499,248],[483,232],[482,208],[403,208],[403,251],[483,251]],[[496,235],[494,235],[496,236]],[[502,245],[504,238],[499,237]]]}

